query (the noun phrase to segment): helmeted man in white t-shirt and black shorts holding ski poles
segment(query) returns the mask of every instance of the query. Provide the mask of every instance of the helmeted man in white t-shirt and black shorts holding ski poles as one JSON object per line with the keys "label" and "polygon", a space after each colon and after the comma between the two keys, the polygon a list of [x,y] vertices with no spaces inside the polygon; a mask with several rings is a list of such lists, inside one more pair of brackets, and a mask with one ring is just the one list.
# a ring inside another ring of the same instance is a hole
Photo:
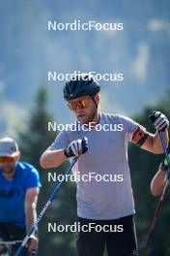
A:
{"label": "helmeted man in white t-shirt and black shorts holding ski poles", "polygon": [[[74,168],[75,174],[81,177],[77,180],[76,193],[81,226],[77,238],[78,256],[101,256],[105,246],[109,256],[138,255],[128,142],[156,154],[163,153],[157,130],[163,132],[168,144],[169,121],[161,112],[153,113],[156,127],[153,135],[126,116],[100,112],[99,89],[99,83],[87,74],[67,81],[64,97],[77,117],[76,129],[72,129],[71,124],[59,133],[42,154],[41,165],[57,167],[81,154]],[[83,137],[89,144],[86,153]]]}

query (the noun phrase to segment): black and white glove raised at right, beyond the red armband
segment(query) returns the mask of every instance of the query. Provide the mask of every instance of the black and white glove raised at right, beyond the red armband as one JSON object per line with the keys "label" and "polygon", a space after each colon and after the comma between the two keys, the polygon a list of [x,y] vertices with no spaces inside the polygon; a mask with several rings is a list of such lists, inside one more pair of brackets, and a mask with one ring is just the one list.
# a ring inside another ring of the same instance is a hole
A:
{"label": "black and white glove raised at right, beyond the red armband", "polygon": [[150,119],[153,122],[156,129],[160,132],[164,132],[169,126],[169,120],[165,114],[161,112],[153,112],[150,115]]}

